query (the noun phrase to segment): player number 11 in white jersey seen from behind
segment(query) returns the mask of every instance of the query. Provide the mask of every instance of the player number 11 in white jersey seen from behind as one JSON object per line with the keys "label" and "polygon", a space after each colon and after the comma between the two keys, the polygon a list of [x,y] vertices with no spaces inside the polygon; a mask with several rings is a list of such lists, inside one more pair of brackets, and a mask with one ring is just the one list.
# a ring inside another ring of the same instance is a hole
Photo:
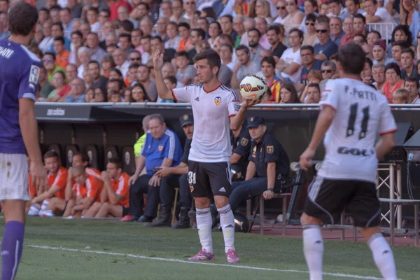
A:
{"label": "player number 11 in white jersey seen from behind", "polygon": [[[309,186],[300,218],[304,256],[311,280],[322,279],[320,225],[339,221],[345,208],[354,225],[361,228],[384,279],[396,280],[393,253],[379,230],[381,209],[375,177],[378,160],[394,146],[397,126],[386,97],[360,80],[365,64],[362,48],[345,45],[339,49],[338,60],[342,78],[326,83],[314,135],[300,156],[300,166],[308,169],[325,136],[325,158]],[[378,133],[381,138],[375,145]]]}

